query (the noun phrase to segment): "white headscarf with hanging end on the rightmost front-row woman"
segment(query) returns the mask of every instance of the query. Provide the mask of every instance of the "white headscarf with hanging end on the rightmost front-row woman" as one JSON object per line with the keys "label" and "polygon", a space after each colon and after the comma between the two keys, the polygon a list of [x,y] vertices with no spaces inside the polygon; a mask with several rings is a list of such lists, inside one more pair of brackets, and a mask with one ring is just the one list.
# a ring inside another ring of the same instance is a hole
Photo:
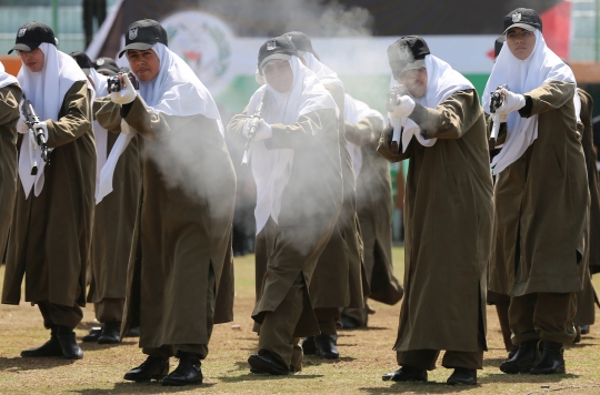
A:
{"label": "white headscarf with hanging end on the rightmost front-row woman", "polygon": [[[483,111],[490,112],[491,92],[496,91],[498,85],[508,84],[509,91],[523,94],[549,81],[576,82],[571,68],[546,45],[543,34],[536,29],[536,47],[526,60],[517,59],[508,45],[502,45],[486,84]],[[574,98],[579,99],[579,95],[576,93]],[[500,173],[521,158],[538,138],[538,115],[521,118],[519,112],[511,112],[508,114],[507,129],[504,146],[491,164],[493,174]]]}

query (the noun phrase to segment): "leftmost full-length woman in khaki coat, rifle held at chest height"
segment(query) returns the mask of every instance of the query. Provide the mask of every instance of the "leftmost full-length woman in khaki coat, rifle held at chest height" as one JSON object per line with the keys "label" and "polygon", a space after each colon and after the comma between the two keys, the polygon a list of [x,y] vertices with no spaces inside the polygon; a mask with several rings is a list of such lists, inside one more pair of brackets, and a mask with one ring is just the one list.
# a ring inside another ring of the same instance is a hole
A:
{"label": "leftmost full-length woman in khaki coat, rifle held at chest height", "polygon": [[[43,40],[43,41],[42,41]],[[34,44],[33,44],[34,43]],[[37,304],[50,340],[24,350],[23,357],[83,357],[73,328],[86,305],[86,265],[92,234],[96,144],[91,128],[91,91],[77,62],[56,48],[52,30],[30,22],[17,43],[23,65],[19,83],[31,100],[47,136],[50,163],[34,151],[38,172],[31,174],[29,132],[21,120],[19,179],[7,255],[2,303]]]}

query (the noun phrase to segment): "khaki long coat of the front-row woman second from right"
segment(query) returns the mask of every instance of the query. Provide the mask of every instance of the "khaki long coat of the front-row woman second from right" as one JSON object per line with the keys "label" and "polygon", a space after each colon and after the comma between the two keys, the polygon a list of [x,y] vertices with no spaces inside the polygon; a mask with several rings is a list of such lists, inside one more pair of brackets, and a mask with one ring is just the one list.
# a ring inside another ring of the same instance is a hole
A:
{"label": "khaki long coat of the front-row woman second from right", "polygon": [[454,92],[436,109],[410,115],[427,139],[390,152],[391,128],[378,148],[409,159],[404,194],[404,293],[396,351],[477,352],[486,324],[492,235],[492,179],[486,119],[474,90]]}

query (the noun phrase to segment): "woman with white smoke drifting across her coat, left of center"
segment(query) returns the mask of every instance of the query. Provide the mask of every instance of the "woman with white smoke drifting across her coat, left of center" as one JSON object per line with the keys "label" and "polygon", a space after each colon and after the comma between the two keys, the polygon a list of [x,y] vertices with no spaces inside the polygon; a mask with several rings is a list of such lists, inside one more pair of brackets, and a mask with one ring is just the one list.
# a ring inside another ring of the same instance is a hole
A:
{"label": "woman with white smoke drifting across her coat, left of center", "polygon": [[[119,129],[122,119],[142,138],[142,195],[121,333],[139,325],[148,357],[124,378],[199,384],[213,324],[232,320],[236,175],[217,105],[167,48],[164,29],[147,19],[128,32],[121,54],[140,91],[121,78],[124,93],[112,92],[96,114],[107,130]],[[179,366],[169,374],[171,356]]]}

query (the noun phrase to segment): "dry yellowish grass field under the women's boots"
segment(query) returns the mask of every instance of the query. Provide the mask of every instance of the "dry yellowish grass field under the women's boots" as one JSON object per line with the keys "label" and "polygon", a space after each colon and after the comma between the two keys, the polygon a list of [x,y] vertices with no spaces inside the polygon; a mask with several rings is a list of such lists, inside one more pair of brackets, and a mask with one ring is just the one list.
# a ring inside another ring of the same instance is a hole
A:
{"label": "dry yellowish grass field under the women's boots", "polygon": [[[396,271],[403,272],[403,251],[394,249]],[[0,269],[0,281],[3,278]],[[477,386],[446,385],[450,371],[430,372],[427,384],[389,383],[381,374],[398,368],[391,350],[398,327],[400,305],[372,303],[368,330],[340,332],[339,361],[304,357],[302,372],[288,377],[256,375],[249,372],[248,356],[256,352],[257,335],[251,331],[254,302],[253,256],[236,259],[236,321],[218,325],[210,354],[202,364],[204,384],[173,388],[159,383],[137,384],[122,379],[144,356],[136,338],[117,346],[82,344],[81,361],[21,358],[23,348],[41,345],[49,337],[37,307],[0,305],[0,393],[1,394],[600,394],[600,328],[577,345],[567,347],[567,374],[557,376],[506,375],[498,366],[506,357],[496,310],[488,307],[488,344],[484,368]],[[596,286],[600,286],[596,278]],[[86,334],[93,320],[92,306],[84,310],[78,336]],[[241,325],[233,330],[232,325]],[[443,323],[440,323],[442,325]],[[177,361],[171,359],[171,368]]]}

